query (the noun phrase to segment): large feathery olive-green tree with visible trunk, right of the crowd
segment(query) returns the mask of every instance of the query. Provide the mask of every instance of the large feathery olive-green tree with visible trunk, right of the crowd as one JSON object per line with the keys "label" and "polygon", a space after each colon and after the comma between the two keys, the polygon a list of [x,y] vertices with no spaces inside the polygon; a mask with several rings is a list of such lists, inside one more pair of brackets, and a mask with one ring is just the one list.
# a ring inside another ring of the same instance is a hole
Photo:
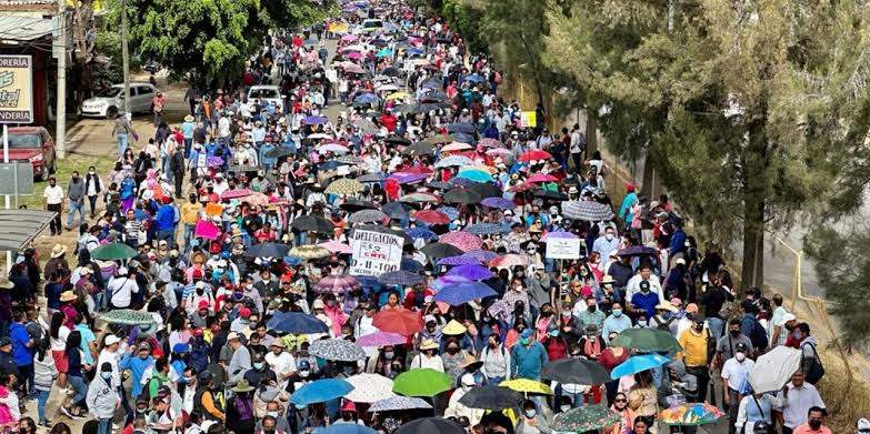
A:
{"label": "large feathery olive-green tree with visible trunk, right of the crowd", "polygon": [[838,169],[832,154],[867,134],[868,95],[853,91],[867,68],[863,7],[551,3],[547,49],[602,113],[612,151],[648,153],[708,239],[742,239],[746,287],[763,282],[766,231],[821,204]]}

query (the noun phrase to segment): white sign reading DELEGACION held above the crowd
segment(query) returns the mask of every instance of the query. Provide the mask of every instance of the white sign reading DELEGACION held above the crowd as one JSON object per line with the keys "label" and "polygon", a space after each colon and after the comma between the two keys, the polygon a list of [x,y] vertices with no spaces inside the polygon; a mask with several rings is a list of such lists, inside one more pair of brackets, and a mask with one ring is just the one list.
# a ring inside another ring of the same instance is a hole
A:
{"label": "white sign reading DELEGACION held above the crowd", "polygon": [[398,271],[403,242],[399,235],[354,230],[350,238],[350,274],[379,276]]}

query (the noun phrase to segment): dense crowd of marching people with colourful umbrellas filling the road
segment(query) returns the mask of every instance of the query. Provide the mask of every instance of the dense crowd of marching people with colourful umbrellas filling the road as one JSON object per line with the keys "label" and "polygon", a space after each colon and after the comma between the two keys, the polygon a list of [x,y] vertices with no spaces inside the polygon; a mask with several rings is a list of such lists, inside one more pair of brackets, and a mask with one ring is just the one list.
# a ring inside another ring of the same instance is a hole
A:
{"label": "dense crowd of marching people with colourful umbrellas filling the road", "polygon": [[3,432],[831,433],[783,297],[404,3],[274,32],[147,143],[119,117],[107,178],[49,180],[79,239],[0,284]]}

